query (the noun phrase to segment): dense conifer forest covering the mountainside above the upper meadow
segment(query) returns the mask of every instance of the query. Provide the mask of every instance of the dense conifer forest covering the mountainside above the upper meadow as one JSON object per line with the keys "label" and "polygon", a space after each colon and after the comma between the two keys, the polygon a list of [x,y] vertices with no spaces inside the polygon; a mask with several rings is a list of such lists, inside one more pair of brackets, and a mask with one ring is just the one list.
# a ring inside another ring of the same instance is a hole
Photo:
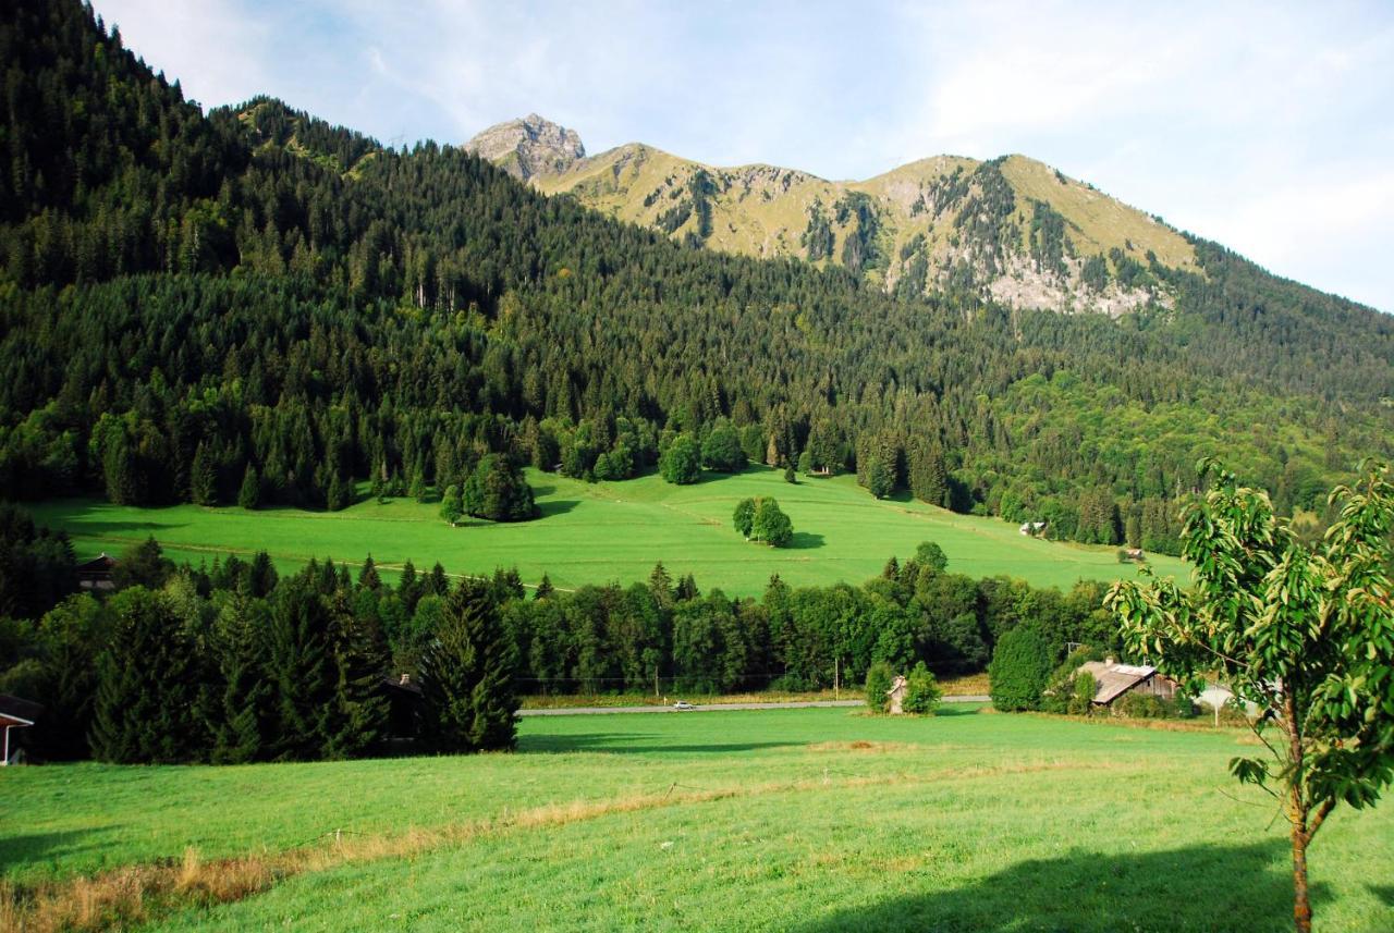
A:
{"label": "dense conifer forest covering the mountainside above the upper meadow", "polygon": [[1394,455],[1394,320],[1213,244],[1203,274],[1139,269],[1175,306],[1118,320],[898,298],[457,148],[270,99],[205,114],[74,0],[11,4],[0,50],[13,499],[340,508],[358,480],[467,490],[489,454],[620,479],[733,433],[874,494],[1174,553],[1203,454],[1312,528]]}

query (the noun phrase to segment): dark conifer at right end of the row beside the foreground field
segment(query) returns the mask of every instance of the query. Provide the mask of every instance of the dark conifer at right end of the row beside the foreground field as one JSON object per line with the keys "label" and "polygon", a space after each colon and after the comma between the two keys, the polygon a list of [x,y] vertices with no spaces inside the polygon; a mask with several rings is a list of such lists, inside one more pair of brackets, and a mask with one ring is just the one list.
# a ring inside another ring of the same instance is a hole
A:
{"label": "dark conifer at right end of the row beside the foreground field", "polygon": [[438,752],[513,748],[514,646],[488,585],[464,581],[421,657],[422,728]]}

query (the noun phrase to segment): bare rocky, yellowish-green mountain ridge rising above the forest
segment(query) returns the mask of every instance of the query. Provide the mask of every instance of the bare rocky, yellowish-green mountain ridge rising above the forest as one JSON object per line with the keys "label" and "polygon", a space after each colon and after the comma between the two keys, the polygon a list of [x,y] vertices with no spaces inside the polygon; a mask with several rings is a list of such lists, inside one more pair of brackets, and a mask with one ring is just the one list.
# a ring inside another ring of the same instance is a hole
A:
{"label": "bare rocky, yellowish-green mountain ridge rising above the forest", "polygon": [[[1160,219],[1025,156],[934,156],[867,181],[827,181],[764,164],[717,168],[629,143],[517,171],[512,139],[524,127],[562,132],[534,114],[467,148],[539,191],[675,240],[841,265],[899,295],[953,285],[1012,308],[1118,316],[1174,308],[1158,270],[1199,267],[1195,245]],[[500,134],[509,145],[480,143]],[[579,138],[567,152],[580,152]]]}

